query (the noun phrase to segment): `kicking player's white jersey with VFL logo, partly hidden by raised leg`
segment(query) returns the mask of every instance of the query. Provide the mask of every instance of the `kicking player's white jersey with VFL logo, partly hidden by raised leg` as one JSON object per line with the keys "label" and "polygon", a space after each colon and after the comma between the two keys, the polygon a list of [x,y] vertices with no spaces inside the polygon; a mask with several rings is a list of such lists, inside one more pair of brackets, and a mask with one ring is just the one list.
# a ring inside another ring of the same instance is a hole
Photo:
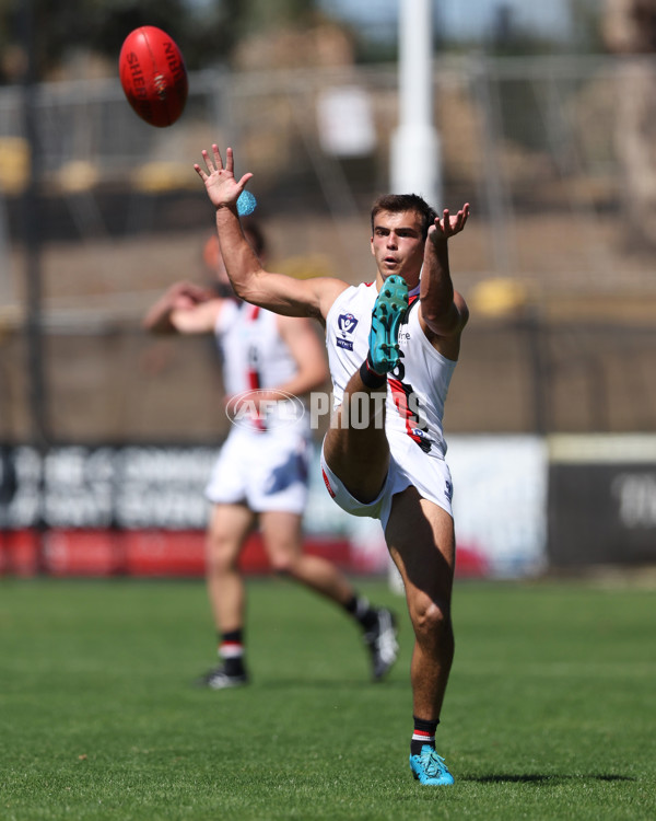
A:
{"label": "kicking player's white jersey with VFL logo, partly hidden by raised leg", "polygon": [[[347,288],[326,319],[326,345],[333,383],[335,404],[368,352],[374,284]],[[424,453],[443,459],[444,403],[456,362],[442,356],[427,340],[419,323],[419,300],[399,328],[400,361],[387,377],[386,429],[410,437]]]}

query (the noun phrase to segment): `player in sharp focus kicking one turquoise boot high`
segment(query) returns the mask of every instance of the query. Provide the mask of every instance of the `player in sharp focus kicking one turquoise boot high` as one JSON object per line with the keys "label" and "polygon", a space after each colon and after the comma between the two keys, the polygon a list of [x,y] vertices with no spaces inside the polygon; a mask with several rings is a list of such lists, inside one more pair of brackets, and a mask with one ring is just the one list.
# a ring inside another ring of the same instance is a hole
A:
{"label": "player in sharp focus kicking one turquoise boot high", "polygon": [[453,784],[435,752],[454,655],[455,535],[442,417],[468,320],[452,284],[447,241],[465,228],[469,205],[438,219],[415,195],[382,197],[372,209],[374,282],[297,280],[263,270],[244,239],[236,200],[253,175],[235,180],[230,148],[225,166],[216,146],[202,158],[206,169],[195,169],[216,209],[237,294],[326,327],[335,418],[324,440],[324,481],[344,510],[383,524],[415,637],[410,767],[421,784]]}

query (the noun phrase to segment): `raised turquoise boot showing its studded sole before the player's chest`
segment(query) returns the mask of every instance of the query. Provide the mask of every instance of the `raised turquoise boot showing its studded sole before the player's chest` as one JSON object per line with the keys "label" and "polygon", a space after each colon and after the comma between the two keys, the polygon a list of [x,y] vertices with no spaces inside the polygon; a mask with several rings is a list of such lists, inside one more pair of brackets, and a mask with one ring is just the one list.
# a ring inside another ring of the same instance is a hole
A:
{"label": "raised turquoise boot showing its studded sole before the player's chest", "polygon": [[368,363],[376,373],[389,373],[399,361],[399,325],[408,310],[408,285],[403,277],[391,276],[383,282],[370,331]]}

